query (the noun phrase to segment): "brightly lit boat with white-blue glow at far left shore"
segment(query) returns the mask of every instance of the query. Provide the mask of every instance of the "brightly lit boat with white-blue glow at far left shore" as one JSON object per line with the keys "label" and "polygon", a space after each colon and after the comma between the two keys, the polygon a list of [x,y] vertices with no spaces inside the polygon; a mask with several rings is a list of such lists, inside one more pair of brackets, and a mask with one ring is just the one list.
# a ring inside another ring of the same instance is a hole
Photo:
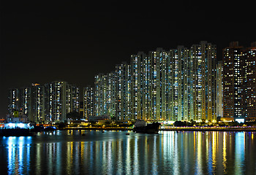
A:
{"label": "brightly lit boat with white-blue glow at far left shore", "polygon": [[14,111],[8,114],[4,125],[0,128],[0,136],[33,136],[31,130],[34,126],[27,120],[23,112]]}

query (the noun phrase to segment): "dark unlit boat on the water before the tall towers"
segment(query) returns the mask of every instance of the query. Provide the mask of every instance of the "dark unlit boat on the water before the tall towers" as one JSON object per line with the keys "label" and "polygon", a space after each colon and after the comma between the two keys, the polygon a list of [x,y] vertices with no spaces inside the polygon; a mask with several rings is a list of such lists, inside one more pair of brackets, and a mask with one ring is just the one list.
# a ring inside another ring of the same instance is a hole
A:
{"label": "dark unlit boat on the water before the tall towers", "polygon": [[133,132],[135,133],[158,133],[160,123],[146,124],[145,120],[137,120]]}

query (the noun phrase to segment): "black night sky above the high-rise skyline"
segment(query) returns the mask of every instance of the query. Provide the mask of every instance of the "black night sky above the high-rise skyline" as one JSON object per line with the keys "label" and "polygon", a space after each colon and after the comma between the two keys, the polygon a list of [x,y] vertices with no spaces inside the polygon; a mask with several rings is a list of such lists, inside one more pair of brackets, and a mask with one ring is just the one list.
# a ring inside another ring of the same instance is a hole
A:
{"label": "black night sky above the high-rise skyline", "polygon": [[230,41],[256,41],[247,1],[1,1],[0,118],[9,88],[61,79],[85,87],[130,55],[206,40],[217,58]]}

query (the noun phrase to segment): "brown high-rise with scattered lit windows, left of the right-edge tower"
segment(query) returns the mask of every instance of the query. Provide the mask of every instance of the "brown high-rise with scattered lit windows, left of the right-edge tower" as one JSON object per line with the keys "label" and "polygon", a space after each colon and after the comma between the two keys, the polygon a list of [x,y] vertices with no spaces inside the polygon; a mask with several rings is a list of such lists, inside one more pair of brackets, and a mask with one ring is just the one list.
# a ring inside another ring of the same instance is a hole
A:
{"label": "brown high-rise with scattered lit windows, left of the right-edge tower", "polygon": [[223,115],[244,119],[244,47],[231,42],[223,50]]}

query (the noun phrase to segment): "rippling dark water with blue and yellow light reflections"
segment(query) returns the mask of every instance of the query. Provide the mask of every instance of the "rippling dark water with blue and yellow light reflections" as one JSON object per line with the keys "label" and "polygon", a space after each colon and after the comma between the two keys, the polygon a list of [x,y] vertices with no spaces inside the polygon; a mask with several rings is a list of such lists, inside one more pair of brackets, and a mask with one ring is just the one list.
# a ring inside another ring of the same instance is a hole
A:
{"label": "rippling dark water with blue and yellow light reflections", "polygon": [[1,174],[256,174],[256,133],[127,132],[1,137]]}

